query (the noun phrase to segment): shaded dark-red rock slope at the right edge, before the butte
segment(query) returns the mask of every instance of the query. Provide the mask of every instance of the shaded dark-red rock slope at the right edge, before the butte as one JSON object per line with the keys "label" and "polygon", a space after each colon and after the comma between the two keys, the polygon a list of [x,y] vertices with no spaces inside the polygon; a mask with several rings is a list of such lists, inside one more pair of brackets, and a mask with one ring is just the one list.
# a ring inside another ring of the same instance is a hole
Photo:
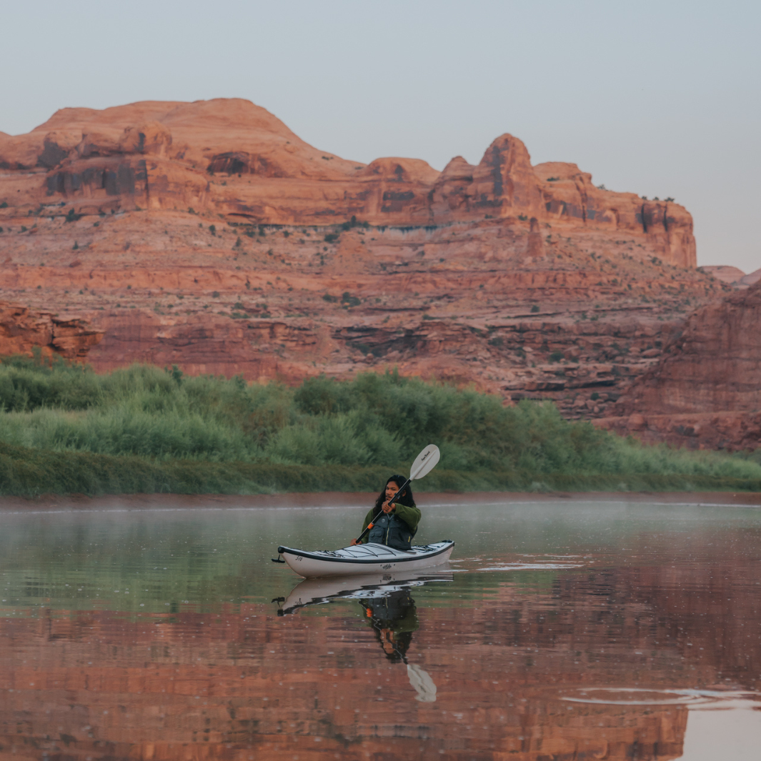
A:
{"label": "shaded dark-red rock slope at the right edge, before the butte", "polygon": [[761,283],[697,310],[605,424],[689,447],[761,445]]}

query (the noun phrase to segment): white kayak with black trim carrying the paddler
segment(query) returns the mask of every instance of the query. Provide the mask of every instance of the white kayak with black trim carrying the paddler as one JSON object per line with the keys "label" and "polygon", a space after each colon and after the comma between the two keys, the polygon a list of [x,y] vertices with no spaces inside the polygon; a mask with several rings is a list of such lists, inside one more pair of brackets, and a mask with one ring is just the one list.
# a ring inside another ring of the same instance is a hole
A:
{"label": "white kayak with black trim carrying the paddler", "polygon": [[453,547],[454,542],[451,540],[416,545],[412,549],[394,549],[385,544],[368,542],[343,549],[319,549],[314,552],[280,546],[278,554],[298,575],[317,578],[433,568],[447,562]]}

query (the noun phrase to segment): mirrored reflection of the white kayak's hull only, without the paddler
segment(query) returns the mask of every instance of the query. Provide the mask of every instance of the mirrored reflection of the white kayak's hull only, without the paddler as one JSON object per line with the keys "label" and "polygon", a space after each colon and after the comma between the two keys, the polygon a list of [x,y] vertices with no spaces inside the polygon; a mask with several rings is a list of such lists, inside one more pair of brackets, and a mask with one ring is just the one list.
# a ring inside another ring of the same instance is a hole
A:
{"label": "mirrored reflection of the white kayak's hull only, without the paddler", "polygon": [[334,600],[379,600],[404,589],[425,587],[453,579],[454,575],[446,571],[432,574],[425,571],[375,573],[361,578],[356,575],[305,578],[291,589],[288,597],[277,597],[275,600],[279,603],[278,615],[285,616],[304,607],[325,605]]}

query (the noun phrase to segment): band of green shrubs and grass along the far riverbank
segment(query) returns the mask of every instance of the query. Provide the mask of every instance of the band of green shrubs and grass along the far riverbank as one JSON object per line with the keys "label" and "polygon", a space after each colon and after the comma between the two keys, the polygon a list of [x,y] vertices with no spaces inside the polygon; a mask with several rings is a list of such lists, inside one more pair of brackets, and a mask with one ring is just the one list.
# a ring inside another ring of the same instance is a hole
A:
{"label": "band of green shrubs and grass along the far riverbank", "polygon": [[761,489],[753,457],[644,447],[396,373],[298,388],[146,365],[0,364],[0,493],[375,489],[435,442],[425,489]]}

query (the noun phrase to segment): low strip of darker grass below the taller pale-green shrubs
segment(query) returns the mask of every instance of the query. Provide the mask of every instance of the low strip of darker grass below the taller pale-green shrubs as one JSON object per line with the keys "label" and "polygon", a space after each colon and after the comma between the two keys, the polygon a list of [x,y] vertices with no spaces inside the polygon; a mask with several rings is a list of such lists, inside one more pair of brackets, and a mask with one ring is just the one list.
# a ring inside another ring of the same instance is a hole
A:
{"label": "low strip of darker grass below the taller pale-green shrubs", "polygon": [[[755,463],[750,466],[749,473],[758,468]],[[25,498],[45,494],[370,492],[395,470],[403,472],[404,468],[149,460],[90,452],[46,451],[0,442],[0,495]],[[518,468],[446,470],[440,466],[424,481],[416,483],[416,492],[761,492],[759,477],[728,476],[721,470],[716,473],[711,463],[705,470],[708,473],[653,473],[651,470],[547,473]],[[736,468],[729,472],[739,474],[743,470]]]}

